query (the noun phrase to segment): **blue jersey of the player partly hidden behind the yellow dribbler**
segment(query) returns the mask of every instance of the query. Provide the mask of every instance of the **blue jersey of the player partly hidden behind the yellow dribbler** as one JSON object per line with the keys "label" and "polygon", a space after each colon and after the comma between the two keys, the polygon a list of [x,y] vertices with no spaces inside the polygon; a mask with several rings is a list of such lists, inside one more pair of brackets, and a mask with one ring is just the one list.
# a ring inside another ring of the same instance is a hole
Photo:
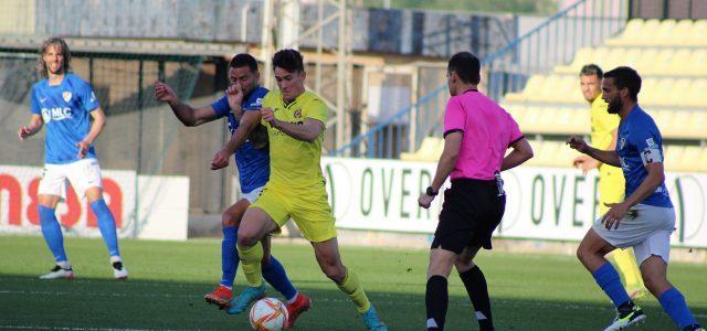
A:
{"label": "blue jersey of the player partly hidden behind the yellow dribbler", "polygon": [[[263,98],[267,94],[267,88],[258,86],[243,99],[241,105],[243,111],[258,111],[263,105]],[[224,95],[211,105],[217,115],[228,117],[229,130],[231,135],[239,128],[239,119],[231,111],[229,100]],[[235,166],[239,168],[239,179],[241,181],[241,192],[249,193],[260,186],[264,186],[270,179],[270,152],[267,149],[255,149],[250,140],[246,140],[241,148],[235,151]]]}

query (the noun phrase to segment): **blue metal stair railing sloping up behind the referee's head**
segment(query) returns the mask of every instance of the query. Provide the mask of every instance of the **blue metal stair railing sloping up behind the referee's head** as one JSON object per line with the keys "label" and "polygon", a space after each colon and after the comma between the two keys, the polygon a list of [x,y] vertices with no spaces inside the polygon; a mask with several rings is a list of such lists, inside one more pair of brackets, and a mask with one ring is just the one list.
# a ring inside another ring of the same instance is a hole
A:
{"label": "blue metal stair railing sloping up behind the referee's head", "polygon": [[[621,31],[629,0],[579,0],[548,18],[508,45],[482,58],[482,84],[494,100],[523,89],[528,78],[569,63],[581,47],[597,46]],[[361,134],[333,156],[397,159],[414,151],[425,137],[441,136],[446,85]],[[414,141],[409,130],[416,130]]]}

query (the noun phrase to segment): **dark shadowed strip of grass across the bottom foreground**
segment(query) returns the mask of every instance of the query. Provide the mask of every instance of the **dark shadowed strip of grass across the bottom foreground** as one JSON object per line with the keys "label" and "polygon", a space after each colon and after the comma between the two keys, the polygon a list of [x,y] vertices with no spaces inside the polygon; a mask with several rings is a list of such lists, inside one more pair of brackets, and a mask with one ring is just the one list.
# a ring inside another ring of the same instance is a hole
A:
{"label": "dark shadowed strip of grass across the bottom foreground", "polygon": [[[354,306],[334,285],[296,281],[314,300],[295,330],[363,330]],[[203,301],[213,284],[82,278],[41,281],[0,274],[0,329],[250,330],[245,314],[228,316]],[[328,289],[327,289],[328,287]],[[242,287],[236,287],[236,290]],[[454,289],[454,292],[460,292]],[[272,288],[268,295],[279,297]],[[369,291],[390,330],[423,330],[424,295]],[[601,330],[613,318],[609,302],[492,299],[497,330]],[[655,300],[644,300],[643,330],[674,330]],[[698,314],[707,307],[693,307]],[[476,330],[468,298],[452,296],[446,330]]]}

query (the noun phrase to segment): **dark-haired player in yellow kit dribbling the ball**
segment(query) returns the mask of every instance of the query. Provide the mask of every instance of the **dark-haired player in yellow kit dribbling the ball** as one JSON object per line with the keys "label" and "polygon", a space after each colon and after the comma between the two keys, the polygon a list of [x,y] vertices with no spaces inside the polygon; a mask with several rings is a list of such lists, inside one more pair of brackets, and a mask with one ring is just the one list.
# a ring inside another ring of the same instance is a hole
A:
{"label": "dark-haired player in yellow kit dribbling the ball", "polygon": [[341,263],[334,215],[325,190],[319,160],[327,107],[305,90],[304,62],[299,52],[282,50],[273,56],[277,90],[263,100],[261,115],[270,138],[271,175],[261,196],[245,212],[238,247],[249,282],[245,292],[265,295],[261,271],[261,238],[277,232],[292,217],[312,243],[321,271],[356,305],[368,330],[388,330],[360,286],[358,277]]}

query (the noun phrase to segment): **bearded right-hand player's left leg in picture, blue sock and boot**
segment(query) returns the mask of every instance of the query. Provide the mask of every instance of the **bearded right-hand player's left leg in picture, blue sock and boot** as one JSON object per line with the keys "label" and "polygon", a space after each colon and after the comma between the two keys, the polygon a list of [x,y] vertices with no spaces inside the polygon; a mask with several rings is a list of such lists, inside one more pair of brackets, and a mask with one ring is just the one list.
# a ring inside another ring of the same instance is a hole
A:
{"label": "bearded right-hand player's left leg in picture, blue sock and boot", "polygon": [[592,274],[597,285],[606,293],[616,308],[616,318],[605,330],[621,330],[644,320],[645,314],[629,297],[621,284],[621,277],[616,269],[604,258],[606,254],[616,247],[597,233],[597,231],[600,231],[600,226],[603,226],[601,223],[597,224],[594,223],[594,226],[587,232],[579,248],[577,248],[577,257],[587,270]]}

